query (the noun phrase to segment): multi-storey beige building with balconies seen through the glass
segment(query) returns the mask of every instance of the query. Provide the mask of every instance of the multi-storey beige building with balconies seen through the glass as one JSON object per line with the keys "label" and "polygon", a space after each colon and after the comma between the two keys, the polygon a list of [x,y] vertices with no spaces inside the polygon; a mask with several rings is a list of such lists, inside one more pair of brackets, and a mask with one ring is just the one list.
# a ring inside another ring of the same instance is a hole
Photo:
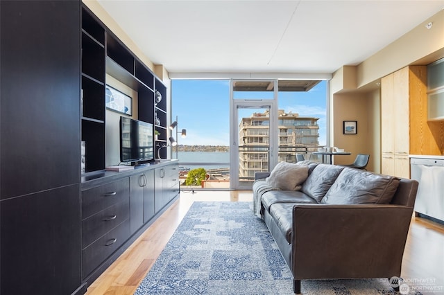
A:
{"label": "multi-storey beige building with balconies seen through the glass", "polygon": [[[319,146],[319,118],[300,117],[280,109],[278,113],[279,161],[296,162],[296,153],[305,159]],[[239,179],[252,180],[257,171],[268,171],[270,116],[253,113],[239,124]]]}

